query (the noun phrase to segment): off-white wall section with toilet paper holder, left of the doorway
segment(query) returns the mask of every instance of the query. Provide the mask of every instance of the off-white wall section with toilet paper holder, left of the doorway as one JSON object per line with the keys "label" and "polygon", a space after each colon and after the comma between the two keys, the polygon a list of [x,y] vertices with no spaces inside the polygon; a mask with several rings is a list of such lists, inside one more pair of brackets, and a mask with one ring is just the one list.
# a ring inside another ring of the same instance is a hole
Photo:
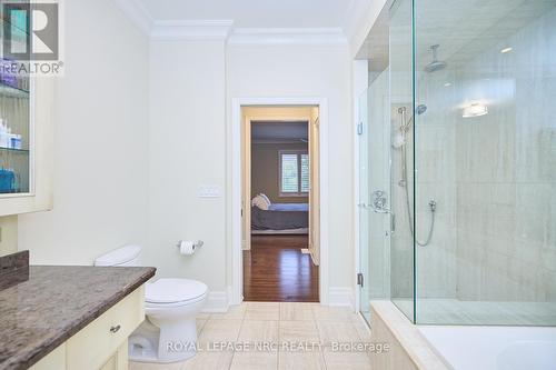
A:
{"label": "off-white wall section with toilet paper holder, left of the doorway", "polygon": [[[226,292],[225,43],[153,41],[150,44],[149,241],[146,261],[160,277],[198,279]],[[198,198],[218,186],[220,198]],[[200,239],[192,257],[180,239]]]}

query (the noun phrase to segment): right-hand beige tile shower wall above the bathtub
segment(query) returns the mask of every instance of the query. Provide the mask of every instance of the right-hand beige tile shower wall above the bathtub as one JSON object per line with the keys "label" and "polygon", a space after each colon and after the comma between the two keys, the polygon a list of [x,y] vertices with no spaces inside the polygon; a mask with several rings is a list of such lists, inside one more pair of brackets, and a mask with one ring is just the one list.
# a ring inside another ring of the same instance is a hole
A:
{"label": "right-hand beige tile shower wall above the bathtub", "polygon": [[[459,71],[458,298],[556,301],[556,11]],[[500,53],[512,47],[513,51]]]}

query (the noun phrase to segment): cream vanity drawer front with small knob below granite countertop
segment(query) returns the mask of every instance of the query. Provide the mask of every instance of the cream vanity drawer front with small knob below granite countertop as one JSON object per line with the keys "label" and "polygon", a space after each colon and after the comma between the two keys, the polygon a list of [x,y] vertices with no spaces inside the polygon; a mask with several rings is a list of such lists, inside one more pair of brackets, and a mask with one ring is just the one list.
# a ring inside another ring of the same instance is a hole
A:
{"label": "cream vanity drawer front with small knob below granite countertop", "polygon": [[145,319],[143,289],[138,288],[68,340],[68,369],[97,370],[113,356]]}

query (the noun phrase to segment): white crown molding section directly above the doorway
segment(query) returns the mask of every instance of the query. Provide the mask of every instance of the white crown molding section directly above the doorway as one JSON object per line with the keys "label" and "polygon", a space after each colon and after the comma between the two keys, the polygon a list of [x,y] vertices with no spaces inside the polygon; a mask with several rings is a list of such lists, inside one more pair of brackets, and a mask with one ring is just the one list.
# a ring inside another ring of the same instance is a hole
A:
{"label": "white crown molding section directly above the doorway", "polygon": [[346,44],[341,28],[237,28],[231,31],[230,44],[335,43]]}

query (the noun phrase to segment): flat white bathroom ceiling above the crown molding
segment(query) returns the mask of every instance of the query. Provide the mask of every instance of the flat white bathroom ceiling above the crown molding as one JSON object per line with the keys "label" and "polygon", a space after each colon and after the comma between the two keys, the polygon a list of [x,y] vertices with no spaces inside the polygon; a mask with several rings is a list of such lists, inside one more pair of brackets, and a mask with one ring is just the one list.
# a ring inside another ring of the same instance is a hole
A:
{"label": "flat white bathroom ceiling above the crown molding", "polygon": [[232,20],[236,28],[337,28],[360,0],[137,1],[155,20]]}

